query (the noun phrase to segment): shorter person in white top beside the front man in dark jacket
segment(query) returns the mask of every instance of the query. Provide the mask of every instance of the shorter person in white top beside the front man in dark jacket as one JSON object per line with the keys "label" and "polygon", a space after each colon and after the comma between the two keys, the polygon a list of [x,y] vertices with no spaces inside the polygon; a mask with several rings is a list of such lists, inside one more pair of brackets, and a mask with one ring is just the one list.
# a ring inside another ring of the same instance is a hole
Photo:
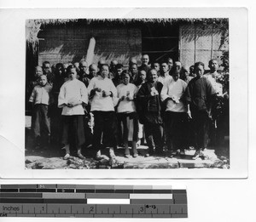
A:
{"label": "shorter person in white top beside the front man in dark jacket", "polygon": [[123,142],[125,145],[125,157],[130,157],[128,148],[129,125],[133,123],[132,135],[132,155],[137,157],[137,137],[138,137],[138,119],[136,107],[134,104],[137,94],[136,85],[130,83],[131,75],[129,71],[123,71],[121,74],[123,83],[117,86],[117,96],[119,104],[117,105],[117,116],[119,122],[123,124]]}

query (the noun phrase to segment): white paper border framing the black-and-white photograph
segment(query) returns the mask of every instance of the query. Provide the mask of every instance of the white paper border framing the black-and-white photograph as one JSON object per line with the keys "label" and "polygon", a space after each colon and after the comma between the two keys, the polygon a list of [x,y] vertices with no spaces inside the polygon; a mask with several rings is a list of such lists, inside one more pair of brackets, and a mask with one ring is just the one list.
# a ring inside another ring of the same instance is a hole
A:
{"label": "white paper border framing the black-and-white photograph", "polygon": [[[0,177],[3,179],[247,178],[247,9],[1,9]],[[25,169],[26,20],[228,18],[230,169]]]}

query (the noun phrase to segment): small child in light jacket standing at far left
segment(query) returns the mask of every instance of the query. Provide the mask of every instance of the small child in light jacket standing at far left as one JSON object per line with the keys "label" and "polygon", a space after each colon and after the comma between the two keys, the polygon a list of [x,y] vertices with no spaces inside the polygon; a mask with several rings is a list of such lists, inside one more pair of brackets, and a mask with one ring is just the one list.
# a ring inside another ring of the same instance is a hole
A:
{"label": "small child in light jacket standing at far left", "polygon": [[39,84],[36,85],[29,99],[33,104],[33,124],[32,131],[35,145],[48,145],[49,143],[49,117],[48,107],[50,102],[51,86],[47,83],[47,77],[41,75]]}

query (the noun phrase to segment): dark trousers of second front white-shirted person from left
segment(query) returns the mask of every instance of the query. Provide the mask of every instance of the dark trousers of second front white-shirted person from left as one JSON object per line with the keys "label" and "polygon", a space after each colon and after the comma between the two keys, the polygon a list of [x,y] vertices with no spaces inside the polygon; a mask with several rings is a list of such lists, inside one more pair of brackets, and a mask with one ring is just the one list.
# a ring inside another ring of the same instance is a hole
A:
{"label": "dark trousers of second front white-shirted person from left", "polygon": [[92,145],[96,151],[117,146],[117,118],[114,111],[93,111],[94,128]]}

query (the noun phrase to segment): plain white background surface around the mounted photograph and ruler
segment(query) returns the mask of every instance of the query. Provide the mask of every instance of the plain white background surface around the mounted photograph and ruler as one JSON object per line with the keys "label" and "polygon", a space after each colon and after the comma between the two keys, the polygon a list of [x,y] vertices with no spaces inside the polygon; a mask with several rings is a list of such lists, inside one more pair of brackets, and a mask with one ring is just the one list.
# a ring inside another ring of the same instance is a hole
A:
{"label": "plain white background surface around the mounted photograph and ruler", "polygon": [[[188,191],[189,200],[189,219],[163,219],[165,221],[256,221],[255,216],[255,198],[256,198],[256,136],[255,136],[255,6],[253,1],[177,1],[176,3],[168,3],[169,1],[126,1],[122,4],[119,1],[94,1],[94,3],[87,3],[85,1],[72,1],[72,2],[62,2],[56,1],[54,3],[52,0],[40,1],[34,3],[34,1],[10,1],[2,0],[0,2],[0,7],[95,7],[101,5],[101,7],[247,7],[249,10],[249,151],[248,151],[248,179],[169,179],[169,180],[133,180],[130,183],[141,183],[150,184],[157,183],[166,185],[167,183],[171,185],[186,185]],[[214,9],[212,9],[214,10]],[[1,13],[1,11],[0,11]],[[8,23],[7,23],[8,24]],[[253,31],[254,29],[254,31]],[[238,30],[239,31],[239,30]],[[1,32],[0,32],[1,33]],[[1,34],[0,34],[1,35]],[[1,50],[1,48],[0,48]],[[235,50],[235,49],[234,49]],[[238,52],[239,53],[239,52]],[[243,55],[241,54],[241,57]],[[3,62],[3,58],[0,58],[0,62]],[[247,64],[240,64],[247,65]],[[11,68],[9,73],[1,73],[0,76],[11,76]],[[247,73],[241,73],[241,78]],[[239,105],[239,100],[237,101]],[[1,124],[1,123],[0,123]],[[2,127],[0,125],[0,127]],[[10,129],[11,130],[11,129]],[[13,129],[14,130],[14,129]],[[4,147],[0,146],[0,157],[3,159]],[[241,152],[243,152],[243,147],[241,147]],[[38,180],[2,180],[1,183],[48,183],[48,181],[38,181]],[[63,181],[62,183],[71,183],[72,181]],[[78,183],[77,181],[73,181]],[[84,181],[85,182],[85,181]],[[99,182],[98,180],[90,180],[91,184]],[[119,181],[108,181],[104,180],[105,183],[124,183],[125,180]],[[55,181],[55,183],[59,183]],[[83,180],[79,180],[79,183],[83,183]],[[88,183],[88,181],[87,181]],[[47,221],[89,221],[89,219],[47,219]],[[90,219],[90,221],[119,221],[120,219]],[[147,221],[148,219],[122,219],[125,221]],[[150,219],[151,221],[160,221],[160,219]],[[0,221],[35,221],[35,219],[15,219],[15,218],[0,218]],[[46,221],[46,219],[36,219],[36,221]]]}

